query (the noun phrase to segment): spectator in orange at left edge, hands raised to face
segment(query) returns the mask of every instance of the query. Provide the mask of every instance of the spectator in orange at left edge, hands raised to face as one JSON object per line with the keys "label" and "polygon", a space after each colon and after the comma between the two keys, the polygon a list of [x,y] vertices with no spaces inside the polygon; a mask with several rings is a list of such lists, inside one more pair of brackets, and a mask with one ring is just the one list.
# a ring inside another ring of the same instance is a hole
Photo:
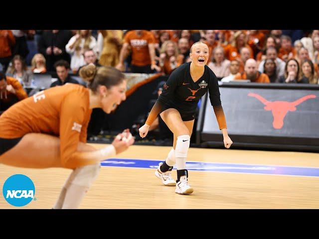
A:
{"label": "spectator in orange at left edge, hands raised to face", "polygon": [[18,80],[0,72],[0,115],[10,106],[27,97]]}

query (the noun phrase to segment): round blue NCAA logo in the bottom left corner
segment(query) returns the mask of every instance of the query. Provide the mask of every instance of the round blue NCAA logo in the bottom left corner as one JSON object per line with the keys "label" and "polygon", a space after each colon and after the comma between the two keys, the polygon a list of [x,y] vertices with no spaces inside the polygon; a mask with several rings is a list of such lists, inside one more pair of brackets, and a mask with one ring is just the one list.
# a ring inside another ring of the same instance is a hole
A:
{"label": "round blue NCAA logo in the bottom left corner", "polygon": [[30,203],[34,198],[35,187],[29,177],[23,174],[14,174],[5,180],[2,193],[9,204],[15,207],[22,207]]}

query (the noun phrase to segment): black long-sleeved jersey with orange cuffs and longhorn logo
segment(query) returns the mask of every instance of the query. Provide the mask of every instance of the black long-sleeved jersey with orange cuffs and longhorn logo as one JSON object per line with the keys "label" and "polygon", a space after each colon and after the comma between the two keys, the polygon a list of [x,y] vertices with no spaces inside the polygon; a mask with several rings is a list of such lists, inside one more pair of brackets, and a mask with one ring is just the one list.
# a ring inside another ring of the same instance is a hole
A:
{"label": "black long-sleeved jersey with orange cuffs and longhorn logo", "polygon": [[[176,109],[181,116],[194,114],[199,99],[208,91],[219,128],[227,128],[217,78],[208,66],[204,67],[204,74],[196,82],[190,75],[190,63],[184,63],[176,68],[163,85],[163,91],[153,106],[146,124],[151,125],[158,114],[168,108]],[[188,120],[191,119],[183,119],[183,121]]]}

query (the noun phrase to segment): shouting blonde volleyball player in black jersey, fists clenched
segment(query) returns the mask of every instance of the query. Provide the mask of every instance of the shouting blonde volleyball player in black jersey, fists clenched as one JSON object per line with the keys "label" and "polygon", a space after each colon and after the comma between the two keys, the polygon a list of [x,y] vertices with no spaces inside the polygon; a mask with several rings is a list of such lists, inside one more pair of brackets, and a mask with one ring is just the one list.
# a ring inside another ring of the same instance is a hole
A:
{"label": "shouting blonde volleyball player in black jersey, fists clenched", "polygon": [[[209,59],[208,46],[203,42],[194,43],[190,48],[189,56],[192,61],[182,64],[171,73],[146,123],[139,129],[141,137],[144,138],[150,125],[160,113],[160,117],[173,132],[173,148],[165,162],[160,163],[155,174],[164,185],[176,185],[175,192],[178,194],[193,192],[193,188],[187,181],[186,157],[197,103],[207,91],[219,128],[223,133],[224,145],[229,148],[233,143],[227,133],[217,78],[206,65]],[[177,164],[176,182],[170,175],[175,162]]]}

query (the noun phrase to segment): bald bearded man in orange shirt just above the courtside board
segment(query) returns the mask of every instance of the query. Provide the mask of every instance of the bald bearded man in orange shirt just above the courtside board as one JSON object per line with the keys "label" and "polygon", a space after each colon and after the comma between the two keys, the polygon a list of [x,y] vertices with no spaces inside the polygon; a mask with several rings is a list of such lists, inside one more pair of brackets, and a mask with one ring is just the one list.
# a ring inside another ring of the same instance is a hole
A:
{"label": "bald bearded man in orange shirt just above the courtside board", "polygon": [[265,73],[257,71],[255,59],[248,59],[245,64],[245,72],[235,76],[234,80],[250,80],[254,83],[270,83],[269,77]]}

